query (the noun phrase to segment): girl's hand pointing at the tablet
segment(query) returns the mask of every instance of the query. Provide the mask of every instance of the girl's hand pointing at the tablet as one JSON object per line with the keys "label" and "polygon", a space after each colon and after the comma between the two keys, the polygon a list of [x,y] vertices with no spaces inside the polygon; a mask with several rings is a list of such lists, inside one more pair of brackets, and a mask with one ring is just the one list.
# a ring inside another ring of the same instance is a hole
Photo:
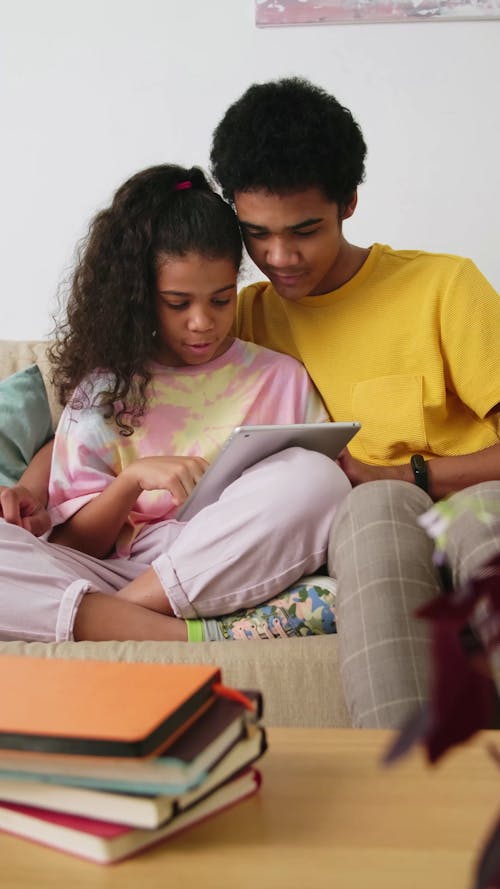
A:
{"label": "girl's hand pointing at the tablet", "polygon": [[184,503],[208,469],[203,457],[141,457],[123,472],[142,491],[169,491],[176,506]]}

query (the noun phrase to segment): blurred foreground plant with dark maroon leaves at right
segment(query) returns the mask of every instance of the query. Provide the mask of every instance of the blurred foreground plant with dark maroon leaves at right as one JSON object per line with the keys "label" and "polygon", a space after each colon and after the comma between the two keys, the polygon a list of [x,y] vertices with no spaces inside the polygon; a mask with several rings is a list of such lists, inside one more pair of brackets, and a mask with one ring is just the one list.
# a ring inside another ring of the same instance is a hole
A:
{"label": "blurred foreground plant with dark maroon leaves at right", "polygon": [[[471,508],[464,502],[463,508]],[[447,501],[435,504],[421,523],[436,543],[436,562],[448,577],[446,531],[456,517]],[[482,521],[497,521],[491,513]],[[403,727],[387,751],[393,763],[421,744],[435,763],[456,744],[491,728],[500,689],[500,553],[461,587],[449,582],[438,599],[417,612],[431,621],[433,675],[428,703]],[[490,750],[500,766],[500,752]],[[500,889],[500,818],[481,853],[474,889]]]}

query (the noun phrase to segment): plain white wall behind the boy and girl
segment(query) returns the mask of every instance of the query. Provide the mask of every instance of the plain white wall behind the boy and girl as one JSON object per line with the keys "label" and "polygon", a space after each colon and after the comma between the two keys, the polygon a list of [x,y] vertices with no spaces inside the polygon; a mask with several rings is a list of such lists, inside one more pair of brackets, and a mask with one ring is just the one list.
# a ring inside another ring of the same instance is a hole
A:
{"label": "plain white wall behind the boy and girl", "polygon": [[1,338],[50,330],[86,223],[141,167],[206,166],[254,81],[301,74],[368,142],[348,238],[471,256],[500,286],[500,21],[257,29],[253,0],[0,0]]}

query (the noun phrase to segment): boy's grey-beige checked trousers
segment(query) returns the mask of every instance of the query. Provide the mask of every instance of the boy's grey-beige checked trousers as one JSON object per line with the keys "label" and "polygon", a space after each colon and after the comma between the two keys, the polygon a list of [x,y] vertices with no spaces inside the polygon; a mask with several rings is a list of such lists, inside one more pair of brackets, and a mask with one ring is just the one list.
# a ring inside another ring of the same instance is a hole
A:
{"label": "boy's grey-beige checked trousers", "polygon": [[[487,507],[500,503],[500,481],[454,494]],[[337,626],[342,682],[353,725],[395,728],[426,699],[428,622],[415,610],[441,591],[433,542],[417,523],[432,505],[416,485],[368,482],[341,504],[329,546],[338,579]],[[455,585],[500,551],[500,526],[471,512],[448,531],[447,559]]]}

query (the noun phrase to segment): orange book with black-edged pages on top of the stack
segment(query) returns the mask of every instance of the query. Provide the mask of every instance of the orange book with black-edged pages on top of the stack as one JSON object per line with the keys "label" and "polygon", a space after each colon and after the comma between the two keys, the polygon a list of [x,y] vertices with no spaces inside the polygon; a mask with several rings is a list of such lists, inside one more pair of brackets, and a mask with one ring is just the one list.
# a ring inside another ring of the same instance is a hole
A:
{"label": "orange book with black-edged pages on top of the stack", "polygon": [[211,664],[0,656],[0,747],[142,757],[209,706]]}

